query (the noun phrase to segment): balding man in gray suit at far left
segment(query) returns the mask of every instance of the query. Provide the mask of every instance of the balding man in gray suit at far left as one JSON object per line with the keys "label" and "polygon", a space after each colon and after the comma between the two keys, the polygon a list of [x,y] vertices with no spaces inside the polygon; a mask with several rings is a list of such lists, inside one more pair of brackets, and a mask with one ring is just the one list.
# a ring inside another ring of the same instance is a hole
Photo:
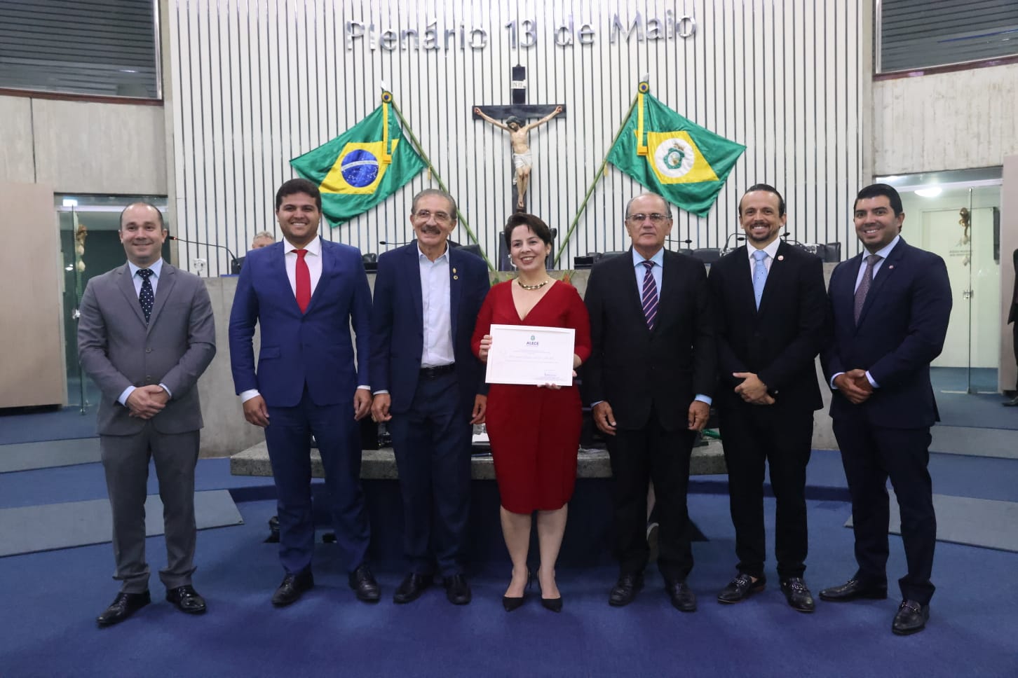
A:
{"label": "balding man in gray suit at far left", "polygon": [[194,571],[194,466],[202,411],[197,378],[216,355],[216,329],[202,279],[162,259],[168,235],[151,204],[120,215],[127,263],[89,281],[77,326],[78,358],[102,390],[99,444],[113,511],[116,599],[96,620],[123,621],[151,602],[145,559],[149,459],[163,500],[166,600],[201,614]]}

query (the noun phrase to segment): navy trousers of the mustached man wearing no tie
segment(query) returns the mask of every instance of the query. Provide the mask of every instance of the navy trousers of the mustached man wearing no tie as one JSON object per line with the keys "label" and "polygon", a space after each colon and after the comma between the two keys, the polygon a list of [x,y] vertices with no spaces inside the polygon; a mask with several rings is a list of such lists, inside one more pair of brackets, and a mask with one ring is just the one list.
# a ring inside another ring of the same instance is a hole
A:
{"label": "navy trousers of the mustached man wearing no tie", "polygon": [[455,373],[422,376],[410,409],[386,424],[403,496],[403,552],[418,574],[434,573],[434,561],[443,576],[463,572],[473,432],[468,410]]}

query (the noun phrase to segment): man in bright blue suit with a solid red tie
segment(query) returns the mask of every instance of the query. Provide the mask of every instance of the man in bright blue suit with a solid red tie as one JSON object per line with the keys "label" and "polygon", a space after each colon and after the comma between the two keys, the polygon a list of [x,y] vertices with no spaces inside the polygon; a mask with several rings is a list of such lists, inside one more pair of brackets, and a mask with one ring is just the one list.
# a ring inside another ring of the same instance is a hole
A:
{"label": "man in bright blue suit with a solid red tie", "polygon": [[[284,239],[247,254],[230,313],[233,383],[244,418],[265,428],[276,481],[279,556],[286,575],[272,603],[289,605],[315,583],[312,435],[350,588],[358,599],[377,602],[378,582],[366,562],[370,531],[356,423],[371,408],[367,276],[356,248],[319,237],[322,196],[315,184],[284,183],[276,192],[276,218]],[[257,371],[256,323],[262,328]]]}

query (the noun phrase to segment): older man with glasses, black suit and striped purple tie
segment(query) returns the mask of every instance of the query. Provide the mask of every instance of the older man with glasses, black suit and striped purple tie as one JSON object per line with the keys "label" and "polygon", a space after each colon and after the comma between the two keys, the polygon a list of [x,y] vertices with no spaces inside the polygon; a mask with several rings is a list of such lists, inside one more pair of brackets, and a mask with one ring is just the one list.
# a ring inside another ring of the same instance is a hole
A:
{"label": "older man with glasses, black suit and striped purple tie", "polygon": [[632,602],[649,556],[647,484],[659,512],[658,569],[672,605],[696,609],[686,489],[696,432],[706,424],[717,361],[702,262],[664,249],[672,210],[654,193],[626,205],[628,255],[595,266],[584,301],[592,353],[583,372],[615,482],[619,578],[609,604]]}

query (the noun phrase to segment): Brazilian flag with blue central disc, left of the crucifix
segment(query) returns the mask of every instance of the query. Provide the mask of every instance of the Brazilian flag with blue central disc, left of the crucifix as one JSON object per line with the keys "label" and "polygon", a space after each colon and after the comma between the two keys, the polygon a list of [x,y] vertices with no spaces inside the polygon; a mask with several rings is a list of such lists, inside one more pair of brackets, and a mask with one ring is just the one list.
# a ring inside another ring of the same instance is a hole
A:
{"label": "Brazilian flag with blue central disc, left of the crucifix", "polygon": [[322,191],[322,213],[339,226],[392,195],[425,169],[425,162],[403,138],[392,108],[382,105],[332,141],[290,161],[298,175]]}

